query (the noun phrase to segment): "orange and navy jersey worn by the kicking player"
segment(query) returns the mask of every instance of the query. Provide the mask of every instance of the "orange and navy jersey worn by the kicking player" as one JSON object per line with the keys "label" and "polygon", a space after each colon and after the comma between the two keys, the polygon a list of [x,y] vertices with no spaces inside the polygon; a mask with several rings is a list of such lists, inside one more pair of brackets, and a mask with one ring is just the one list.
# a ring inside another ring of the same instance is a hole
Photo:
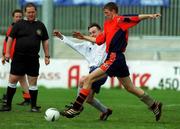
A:
{"label": "orange and navy jersey worn by the kicking player", "polygon": [[116,16],[104,22],[104,32],[96,38],[98,45],[106,42],[106,52],[124,52],[128,42],[128,29],[140,22],[138,15]]}

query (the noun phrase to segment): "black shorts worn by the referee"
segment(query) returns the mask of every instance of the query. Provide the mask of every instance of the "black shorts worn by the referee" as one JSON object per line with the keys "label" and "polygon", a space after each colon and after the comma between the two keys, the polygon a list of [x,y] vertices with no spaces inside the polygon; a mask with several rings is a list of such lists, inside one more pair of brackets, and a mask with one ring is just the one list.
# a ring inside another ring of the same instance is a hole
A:
{"label": "black shorts worn by the referee", "polygon": [[39,56],[14,54],[10,73],[18,76],[27,74],[37,77],[39,75]]}

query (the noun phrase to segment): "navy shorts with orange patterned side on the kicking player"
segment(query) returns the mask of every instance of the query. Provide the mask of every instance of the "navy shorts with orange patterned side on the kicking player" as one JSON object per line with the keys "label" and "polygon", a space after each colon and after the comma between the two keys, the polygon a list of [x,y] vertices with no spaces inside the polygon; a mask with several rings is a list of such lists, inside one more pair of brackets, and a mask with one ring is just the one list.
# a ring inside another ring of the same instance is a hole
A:
{"label": "navy shorts with orange patterned side on the kicking player", "polygon": [[110,77],[127,77],[129,69],[126,64],[126,59],[123,53],[108,53],[105,62],[100,68]]}

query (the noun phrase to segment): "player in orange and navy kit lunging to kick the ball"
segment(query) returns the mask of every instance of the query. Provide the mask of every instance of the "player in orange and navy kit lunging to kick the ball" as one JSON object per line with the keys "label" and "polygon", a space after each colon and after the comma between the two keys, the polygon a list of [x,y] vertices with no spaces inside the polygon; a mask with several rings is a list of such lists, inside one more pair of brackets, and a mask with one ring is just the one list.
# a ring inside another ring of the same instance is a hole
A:
{"label": "player in orange and navy kit lunging to kick the ball", "polygon": [[122,82],[124,88],[129,92],[137,96],[143,101],[154,113],[156,121],[161,117],[162,103],[152,99],[142,89],[136,88],[130,77],[129,69],[126,64],[124,52],[126,50],[128,41],[128,29],[137,25],[144,19],[156,19],[160,17],[160,14],[140,14],[137,16],[119,16],[118,6],[113,3],[107,3],[104,8],[104,15],[106,21],[104,22],[104,32],[98,35],[96,38],[82,35],[81,33],[74,33],[74,36],[80,39],[85,39],[97,44],[106,43],[106,52],[108,56],[105,62],[95,71],[90,73],[83,83],[83,89],[81,89],[79,96],[74,102],[73,106],[69,109],[65,109],[61,112],[63,116],[73,118],[81,113],[81,107],[86,100],[91,85],[94,81],[99,80],[104,75],[110,77],[115,76]]}

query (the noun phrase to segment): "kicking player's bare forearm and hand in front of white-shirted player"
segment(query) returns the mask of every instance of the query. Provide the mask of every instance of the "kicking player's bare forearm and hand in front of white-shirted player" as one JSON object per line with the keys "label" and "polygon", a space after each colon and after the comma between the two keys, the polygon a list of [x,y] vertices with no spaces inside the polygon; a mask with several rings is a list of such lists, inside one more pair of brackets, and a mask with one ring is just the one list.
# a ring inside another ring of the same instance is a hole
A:
{"label": "kicking player's bare forearm and hand in front of white-shirted player", "polygon": [[73,32],[73,37],[77,38],[77,39],[87,40],[87,41],[90,41],[93,43],[96,42],[96,38],[91,37],[91,36],[87,36],[87,35],[83,35],[80,32]]}

